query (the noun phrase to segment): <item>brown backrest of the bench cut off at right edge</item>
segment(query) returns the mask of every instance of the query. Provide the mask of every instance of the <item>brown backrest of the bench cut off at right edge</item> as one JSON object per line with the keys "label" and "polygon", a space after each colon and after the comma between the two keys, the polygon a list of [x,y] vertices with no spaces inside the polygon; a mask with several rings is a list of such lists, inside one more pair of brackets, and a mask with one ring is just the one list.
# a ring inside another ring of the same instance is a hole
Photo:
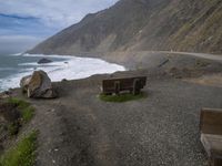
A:
{"label": "brown backrest of the bench cut off at right edge", "polygon": [[222,135],[222,108],[202,108],[200,129],[204,134]]}

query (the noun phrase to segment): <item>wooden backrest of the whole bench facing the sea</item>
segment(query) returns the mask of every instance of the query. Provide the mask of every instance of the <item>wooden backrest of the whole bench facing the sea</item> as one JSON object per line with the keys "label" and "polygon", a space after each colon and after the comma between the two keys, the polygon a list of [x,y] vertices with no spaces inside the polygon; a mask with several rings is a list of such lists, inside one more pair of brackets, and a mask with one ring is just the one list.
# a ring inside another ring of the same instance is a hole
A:
{"label": "wooden backrest of the whole bench facing the sea", "polygon": [[103,91],[109,91],[114,89],[114,83],[120,83],[120,89],[125,90],[133,86],[133,81],[139,80],[141,89],[147,84],[147,76],[137,76],[137,77],[122,77],[122,79],[110,79],[102,81]]}

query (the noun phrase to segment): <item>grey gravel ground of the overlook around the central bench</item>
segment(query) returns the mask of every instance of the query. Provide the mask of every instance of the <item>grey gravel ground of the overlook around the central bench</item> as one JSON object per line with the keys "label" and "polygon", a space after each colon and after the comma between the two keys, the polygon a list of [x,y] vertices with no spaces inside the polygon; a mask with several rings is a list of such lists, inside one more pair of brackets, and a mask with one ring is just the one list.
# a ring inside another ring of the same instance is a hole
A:
{"label": "grey gravel ground of the overlook around the central bench", "polygon": [[[148,74],[131,71],[115,75]],[[149,75],[147,98],[98,98],[109,75],[61,82],[60,98],[31,102],[40,131],[39,166],[204,166],[201,107],[222,107],[222,89]]]}

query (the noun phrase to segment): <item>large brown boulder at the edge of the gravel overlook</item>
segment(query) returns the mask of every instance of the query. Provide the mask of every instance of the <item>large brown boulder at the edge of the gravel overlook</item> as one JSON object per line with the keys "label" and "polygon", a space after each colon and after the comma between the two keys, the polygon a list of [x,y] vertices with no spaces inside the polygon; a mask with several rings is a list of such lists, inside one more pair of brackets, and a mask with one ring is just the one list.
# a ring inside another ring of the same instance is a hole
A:
{"label": "large brown boulder at the edge of the gravel overlook", "polygon": [[44,71],[34,71],[32,75],[21,79],[20,86],[28,97],[54,98],[57,93],[52,87],[50,77]]}

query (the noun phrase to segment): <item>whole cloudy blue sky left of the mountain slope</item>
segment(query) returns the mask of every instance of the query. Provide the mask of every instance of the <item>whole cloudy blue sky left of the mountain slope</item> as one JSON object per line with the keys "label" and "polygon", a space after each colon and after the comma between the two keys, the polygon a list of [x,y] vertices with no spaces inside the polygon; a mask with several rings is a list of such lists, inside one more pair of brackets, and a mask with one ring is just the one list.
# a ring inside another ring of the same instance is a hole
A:
{"label": "whole cloudy blue sky left of the mountain slope", "polygon": [[23,52],[118,0],[0,0],[0,53]]}

